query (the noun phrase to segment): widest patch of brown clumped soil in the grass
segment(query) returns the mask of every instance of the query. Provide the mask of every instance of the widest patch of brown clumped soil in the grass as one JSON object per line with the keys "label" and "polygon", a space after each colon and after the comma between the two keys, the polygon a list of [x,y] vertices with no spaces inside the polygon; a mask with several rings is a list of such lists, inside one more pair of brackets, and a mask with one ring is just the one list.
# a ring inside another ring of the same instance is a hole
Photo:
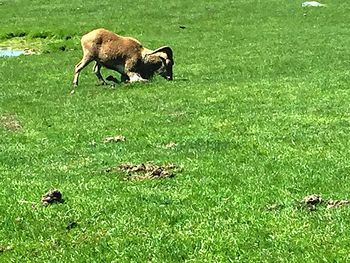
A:
{"label": "widest patch of brown clumped soil in the grass", "polygon": [[118,170],[127,173],[130,180],[160,179],[175,176],[174,164],[155,165],[152,163],[125,163],[118,166]]}

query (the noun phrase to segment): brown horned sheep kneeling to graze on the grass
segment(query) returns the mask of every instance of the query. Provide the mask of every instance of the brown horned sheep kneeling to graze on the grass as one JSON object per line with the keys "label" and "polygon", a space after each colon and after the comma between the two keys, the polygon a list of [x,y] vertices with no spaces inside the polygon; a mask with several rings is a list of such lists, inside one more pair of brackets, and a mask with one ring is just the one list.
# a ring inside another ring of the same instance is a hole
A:
{"label": "brown horned sheep kneeling to graze on the grass", "polygon": [[91,61],[95,61],[93,71],[101,84],[106,84],[101,67],[116,70],[123,82],[147,81],[154,74],[167,80],[173,79],[173,51],[164,46],[150,50],[131,37],[122,37],[100,28],[81,38],[84,56],[75,66],[73,85],[78,85],[79,73]]}

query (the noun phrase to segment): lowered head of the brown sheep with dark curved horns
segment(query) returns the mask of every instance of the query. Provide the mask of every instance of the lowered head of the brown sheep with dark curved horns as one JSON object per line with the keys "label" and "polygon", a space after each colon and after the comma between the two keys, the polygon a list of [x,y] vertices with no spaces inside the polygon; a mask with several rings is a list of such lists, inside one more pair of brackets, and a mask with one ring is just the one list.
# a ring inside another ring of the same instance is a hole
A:
{"label": "lowered head of the brown sheep with dark curved horns", "polygon": [[173,51],[170,47],[160,47],[147,54],[148,61],[154,67],[154,73],[159,74],[166,80],[173,80]]}

